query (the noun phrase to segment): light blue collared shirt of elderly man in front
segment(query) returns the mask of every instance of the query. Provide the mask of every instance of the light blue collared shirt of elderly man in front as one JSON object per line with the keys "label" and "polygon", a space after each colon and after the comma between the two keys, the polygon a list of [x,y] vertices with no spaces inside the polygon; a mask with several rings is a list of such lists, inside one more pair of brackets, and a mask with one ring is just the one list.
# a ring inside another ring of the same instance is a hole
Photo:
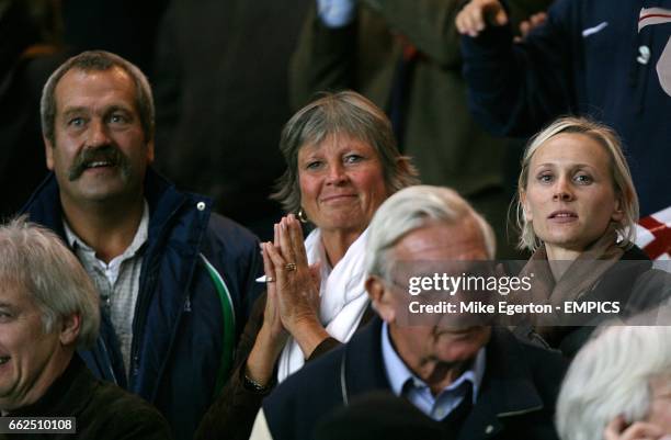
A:
{"label": "light blue collared shirt of elderly man in front", "polygon": [[432,419],[444,419],[462,403],[466,393],[466,387],[464,386],[466,382],[473,384],[473,403],[475,404],[482,376],[485,375],[486,353],[484,347],[476,354],[471,368],[443,388],[437,396],[433,396],[429,385],[418,377],[398,356],[391,345],[387,323],[383,324],[382,351],[387,380],[391,385],[394,394],[406,397]]}

